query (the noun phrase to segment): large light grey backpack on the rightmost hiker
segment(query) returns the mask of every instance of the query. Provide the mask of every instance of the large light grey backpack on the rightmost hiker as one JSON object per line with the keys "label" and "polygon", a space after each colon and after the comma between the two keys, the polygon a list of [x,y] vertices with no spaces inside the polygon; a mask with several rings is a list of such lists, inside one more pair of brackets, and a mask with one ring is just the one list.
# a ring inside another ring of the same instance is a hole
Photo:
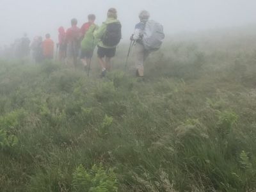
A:
{"label": "large light grey backpack on the rightmost hiker", "polygon": [[154,20],[148,20],[143,32],[143,45],[148,51],[157,51],[164,39],[164,29]]}

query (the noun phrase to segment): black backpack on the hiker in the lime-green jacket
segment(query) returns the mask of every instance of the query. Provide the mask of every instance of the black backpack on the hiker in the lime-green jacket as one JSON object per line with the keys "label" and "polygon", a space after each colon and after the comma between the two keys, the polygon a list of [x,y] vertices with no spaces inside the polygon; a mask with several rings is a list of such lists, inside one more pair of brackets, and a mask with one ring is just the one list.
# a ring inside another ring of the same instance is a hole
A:
{"label": "black backpack on the hiker in the lime-green jacket", "polygon": [[114,47],[119,44],[122,38],[122,25],[120,22],[112,22],[108,24],[106,32],[102,37],[102,43],[109,47]]}

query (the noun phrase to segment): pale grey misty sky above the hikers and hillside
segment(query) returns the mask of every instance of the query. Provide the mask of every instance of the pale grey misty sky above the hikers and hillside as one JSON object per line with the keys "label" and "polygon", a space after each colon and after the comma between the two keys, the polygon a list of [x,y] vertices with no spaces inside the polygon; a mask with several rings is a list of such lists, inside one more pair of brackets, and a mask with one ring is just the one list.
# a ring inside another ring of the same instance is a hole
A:
{"label": "pale grey misty sky above the hikers and hillside", "polygon": [[79,27],[89,13],[96,23],[106,19],[108,8],[118,10],[123,38],[129,38],[138,13],[148,10],[166,33],[256,24],[256,0],[0,0],[0,45],[10,44],[28,33],[29,38],[51,33],[56,40],[59,26],[68,28],[76,17]]}

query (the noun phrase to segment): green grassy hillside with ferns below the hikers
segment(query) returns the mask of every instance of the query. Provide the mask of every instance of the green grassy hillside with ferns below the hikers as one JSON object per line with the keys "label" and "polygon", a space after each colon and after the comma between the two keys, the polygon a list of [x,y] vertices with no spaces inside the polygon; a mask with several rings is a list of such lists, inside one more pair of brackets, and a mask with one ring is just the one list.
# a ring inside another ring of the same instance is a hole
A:
{"label": "green grassy hillside with ferns below the hikers", "polygon": [[127,47],[104,79],[0,61],[0,191],[256,191],[256,44],[221,39],[166,42],[143,81]]}

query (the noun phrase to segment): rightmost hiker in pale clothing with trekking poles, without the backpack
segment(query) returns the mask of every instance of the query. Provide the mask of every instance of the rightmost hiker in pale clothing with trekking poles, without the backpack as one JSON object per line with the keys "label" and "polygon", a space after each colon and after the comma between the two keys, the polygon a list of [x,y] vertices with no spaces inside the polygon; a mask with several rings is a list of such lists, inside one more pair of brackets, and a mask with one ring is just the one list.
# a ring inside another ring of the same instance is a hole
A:
{"label": "rightmost hiker in pale clothing with trekking poles, without the backpack", "polygon": [[131,36],[131,40],[136,42],[135,44],[135,54],[136,54],[136,76],[144,76],[144,62],[149,55],[149,51],[144,48],[143,45],[143,32],[145,25],[150,17],[150,14],[143,10],[139,14],[140,22],[136,24],[134,29],[134,34]]}

